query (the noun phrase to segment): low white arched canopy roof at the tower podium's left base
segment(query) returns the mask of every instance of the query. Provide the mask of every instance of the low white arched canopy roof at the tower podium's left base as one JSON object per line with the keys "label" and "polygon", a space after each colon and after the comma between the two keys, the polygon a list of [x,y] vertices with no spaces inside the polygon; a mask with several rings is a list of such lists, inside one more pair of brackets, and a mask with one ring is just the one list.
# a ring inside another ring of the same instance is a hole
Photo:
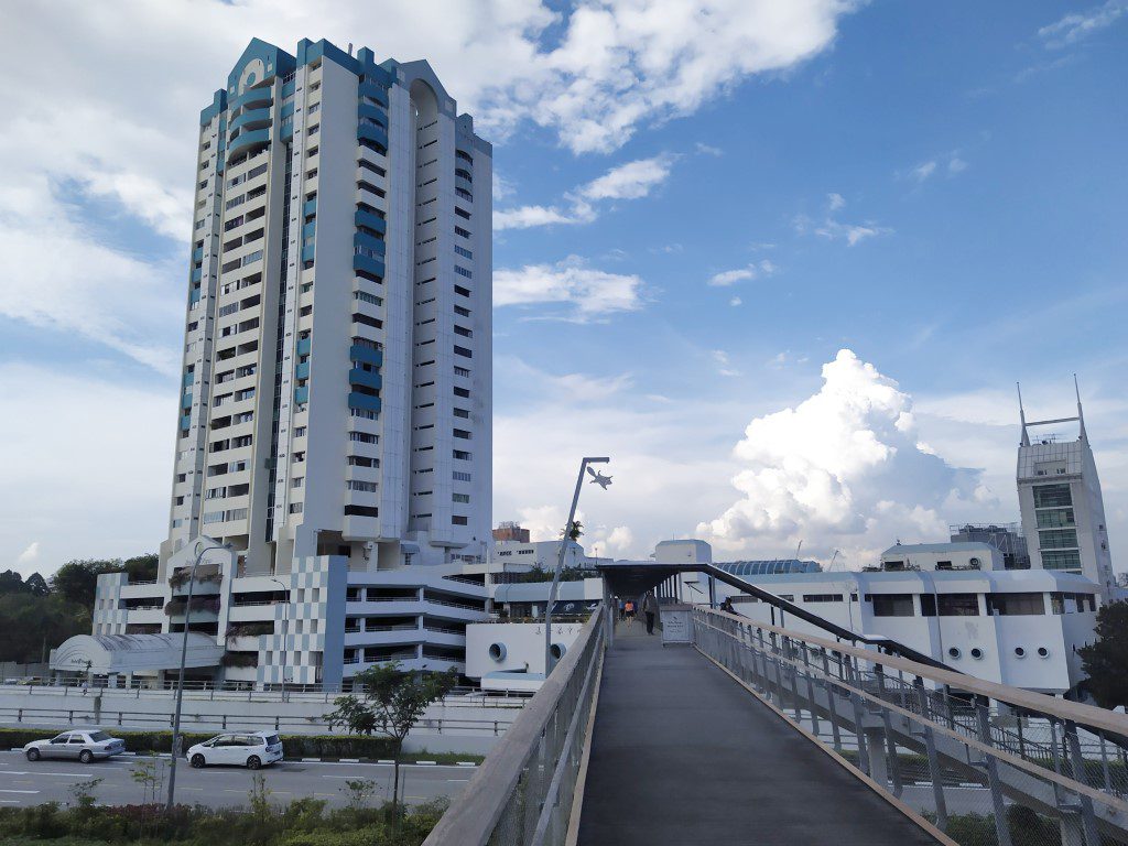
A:
{"label": "low white arched canopy roof at the tower podium's left base", "polygon": [[[179,632],[147,635],[74,635],[51,653],[51,669],[56,672],[89,672],[95,676],[173,670],[180,666]],[[215,667],[223,658],[223,646],[214,637],[188,633],[184,666],[192,669]]]}

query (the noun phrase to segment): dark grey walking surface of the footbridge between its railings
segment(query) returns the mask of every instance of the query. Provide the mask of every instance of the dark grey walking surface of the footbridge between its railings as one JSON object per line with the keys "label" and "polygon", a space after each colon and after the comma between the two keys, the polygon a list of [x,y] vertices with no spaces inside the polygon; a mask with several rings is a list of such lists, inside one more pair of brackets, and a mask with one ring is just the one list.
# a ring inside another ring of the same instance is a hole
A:
{"label": "dark grey walking surface of the footbridge between its railings", "polygon": [[935,843],[691,646],[615,634],[581,846]]}

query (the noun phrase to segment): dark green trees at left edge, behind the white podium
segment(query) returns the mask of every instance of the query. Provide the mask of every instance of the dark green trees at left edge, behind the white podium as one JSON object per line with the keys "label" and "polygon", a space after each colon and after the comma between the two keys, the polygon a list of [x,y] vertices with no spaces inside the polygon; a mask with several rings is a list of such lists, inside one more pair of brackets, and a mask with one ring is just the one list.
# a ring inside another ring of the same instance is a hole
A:
{"label": "dark green trees at left edge, behind the white podium", "polygon": [[152,581],[157,555],[71,561],[50,581],[38,573],[27,579],[12,570],[0,573],[0,661],[39,661],[68,637],[89,634],[103,573],[129,573],[131,582]]}

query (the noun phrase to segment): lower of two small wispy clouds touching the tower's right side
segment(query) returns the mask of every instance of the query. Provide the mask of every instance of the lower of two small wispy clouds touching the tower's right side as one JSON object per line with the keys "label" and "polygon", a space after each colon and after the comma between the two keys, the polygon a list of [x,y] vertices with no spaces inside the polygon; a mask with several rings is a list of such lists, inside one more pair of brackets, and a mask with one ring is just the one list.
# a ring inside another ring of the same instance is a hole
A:
{"label": "lower of two small wispy clouds touching the tower's right side", "polygon": [[[538,318],[588,321],[636,311],[643,306],[643,281],[607,273],[579,256],[556,264],[527,264],[494,271],[494,306],[540,306]],[[552,310],[552,306],[563,308]]]}

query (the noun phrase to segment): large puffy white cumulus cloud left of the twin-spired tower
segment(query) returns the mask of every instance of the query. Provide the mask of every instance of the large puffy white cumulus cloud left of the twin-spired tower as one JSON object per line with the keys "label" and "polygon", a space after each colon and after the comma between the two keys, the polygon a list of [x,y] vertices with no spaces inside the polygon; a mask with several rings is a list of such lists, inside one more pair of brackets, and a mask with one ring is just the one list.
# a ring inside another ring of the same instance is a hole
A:
{"label": "large puffy white cumulus cloud left of the twin-spired tower", "polygon": [[821,389],[757,417],[733,450],[740,499],[698,534],[722,550],[835,548],[858,565],[898,537],[943,539],[942,506],[970,501],[980,473],[919,446],[911,398],[841,350]]}

